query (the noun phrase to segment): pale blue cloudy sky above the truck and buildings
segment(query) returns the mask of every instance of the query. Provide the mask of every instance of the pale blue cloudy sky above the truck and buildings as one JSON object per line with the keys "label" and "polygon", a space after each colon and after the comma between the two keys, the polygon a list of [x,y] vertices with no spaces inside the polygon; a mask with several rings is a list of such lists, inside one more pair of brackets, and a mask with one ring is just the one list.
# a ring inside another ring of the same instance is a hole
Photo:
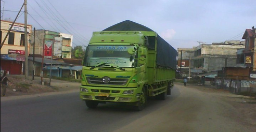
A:
{"label": "pale blue cloudy sky above the truck and buildings", "polygon": [[[3,20],[14,20],[23,1],[3,1]],[[94,31],[125,20],[151,28],[175,49],[196,47],[198,41],[242,41],[246,28],[256,27],[255,0],[27,1],[28,24],[36,30],[72,34],[73,46],[87,46]],[[24,23],[23,12],[17,22]]]}

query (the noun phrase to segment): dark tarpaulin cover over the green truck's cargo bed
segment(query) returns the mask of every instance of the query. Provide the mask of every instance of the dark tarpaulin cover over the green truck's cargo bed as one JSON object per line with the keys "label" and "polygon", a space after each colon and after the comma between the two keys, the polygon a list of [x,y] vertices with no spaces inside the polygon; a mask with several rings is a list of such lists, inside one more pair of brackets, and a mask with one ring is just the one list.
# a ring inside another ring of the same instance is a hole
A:
{"label": "dark tarpaulin cover over the green truck's cargo bed", "polygon": [[[138,24],[136,22],[126,20],[117,24],[114,24],[103,31],[151,31],[150,28]],[[169,45],[167,41],[157,36],[157,65],[161,67],[168,67],[176,69],[176,54],[177,51]]]}

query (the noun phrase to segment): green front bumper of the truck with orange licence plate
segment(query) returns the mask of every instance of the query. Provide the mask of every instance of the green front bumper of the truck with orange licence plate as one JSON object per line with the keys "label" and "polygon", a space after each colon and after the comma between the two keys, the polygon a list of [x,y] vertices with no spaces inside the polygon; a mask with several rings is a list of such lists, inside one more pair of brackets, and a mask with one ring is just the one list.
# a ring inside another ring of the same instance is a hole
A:
{"label": "green front bumper of the truck with orange licence plate", "polygon": [[[136,102],[140,100],[140,94],[136,94],[137,88],[120,89],[110,87],[94,87],[94,86],[81,86],[87,89],[88,92],[80,91],[81,99],[110,101],[110,102]],[[127,90],[134,90],[131,95],[124,95],[123,92]]]}

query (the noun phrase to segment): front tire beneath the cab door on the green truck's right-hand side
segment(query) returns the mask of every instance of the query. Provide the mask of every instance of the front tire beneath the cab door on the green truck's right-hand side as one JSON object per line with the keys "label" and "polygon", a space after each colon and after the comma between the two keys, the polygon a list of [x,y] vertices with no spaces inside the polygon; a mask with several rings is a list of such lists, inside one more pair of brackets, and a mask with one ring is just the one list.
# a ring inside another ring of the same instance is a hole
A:
{"label": "front tire beneath the cab door on the green truck's right-hand side", "polygon": [[142,93],[140,94],[140,100],[137,102],[137,106],[134,106],[135,110],[142,111],[146,107],[147,101],[148,101],[148,93],[144,86],[142,88]]}

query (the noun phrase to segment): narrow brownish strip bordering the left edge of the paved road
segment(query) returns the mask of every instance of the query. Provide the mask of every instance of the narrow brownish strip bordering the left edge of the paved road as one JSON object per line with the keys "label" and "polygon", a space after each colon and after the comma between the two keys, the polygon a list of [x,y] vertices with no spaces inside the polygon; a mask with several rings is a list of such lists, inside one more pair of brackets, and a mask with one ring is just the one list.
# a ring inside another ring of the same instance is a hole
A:
{"label": "narrow brownish strip bordering the left edge of the paved road", "polygon": [[9,101],[9,100],[24,99],[24,98],[32,98],[32,97],[43,97],[43,96],[50,96],[50,95],[76,93],[76,92],[79,92],[79,89],[78,90],[69,90],[69,91],[60,91],[60,92],[47,92],[47,93],[32,94],[32,95],[19,95],[19,96],[1,97],[1,102]]}

